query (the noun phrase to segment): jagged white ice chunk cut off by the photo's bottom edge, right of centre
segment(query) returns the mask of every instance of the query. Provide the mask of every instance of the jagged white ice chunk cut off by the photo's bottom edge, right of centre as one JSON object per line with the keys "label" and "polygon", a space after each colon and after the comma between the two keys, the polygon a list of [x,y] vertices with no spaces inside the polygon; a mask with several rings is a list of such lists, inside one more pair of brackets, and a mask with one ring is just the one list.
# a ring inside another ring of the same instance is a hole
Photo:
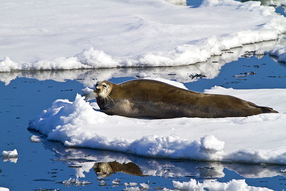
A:
{"label": "jagged white ice chunk cut off by the photo's bottom edge, right of centre", "polygon": [[197,182],[195,179],[191,179],[189,182],[178,182],[173,180],[173,186],[175,189],[182,190],[251,190],[251,191],[270,191],[269,188],[248,186],[245,180],[231,180],[229,182],[217,182],[217,181],[206,181]]}

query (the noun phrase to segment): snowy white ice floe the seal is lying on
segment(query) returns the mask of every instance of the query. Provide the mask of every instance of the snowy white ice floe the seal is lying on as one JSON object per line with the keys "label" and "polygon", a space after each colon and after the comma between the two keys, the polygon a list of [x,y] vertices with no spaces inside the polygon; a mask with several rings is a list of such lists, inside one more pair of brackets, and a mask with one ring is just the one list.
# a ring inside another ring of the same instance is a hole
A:
{"label": "snowy white ice floe the seal is lying on", "polygon": [[51,108],[29,121],[29,128],[46,135],[48,140],[72,147],[175,159],[286,163],[286,141],[281,137],[286,120],[285,89],[215,87],[205,92],[234,95],[273,107],[280,113],[241,118],[142,120],[108,116],[99,111],[95,102],[86,102],[77,95],[74,102],[53,102]]}

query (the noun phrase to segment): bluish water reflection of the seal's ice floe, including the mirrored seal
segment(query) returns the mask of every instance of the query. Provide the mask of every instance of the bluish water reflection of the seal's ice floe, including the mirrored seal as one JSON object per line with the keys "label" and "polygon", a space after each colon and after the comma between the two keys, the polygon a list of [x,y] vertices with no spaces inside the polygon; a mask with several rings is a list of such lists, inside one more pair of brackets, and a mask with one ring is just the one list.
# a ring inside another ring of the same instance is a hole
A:
{"label": "bluish water reflection of the seal's ice floe, including the mirrored seal", "polygon": [[84,171],[91,170],[100,177],[114,176],[115,178],[117,172],[123,172],[133,176],[187,177],[205,180],[223,178],[224,169],[232,170],[244,178],[286,176],[285,173],[280,172],[285,170],[283,165],[146,158],[106,150],[67,148],[63,144],[51,141],[43,141],[43,147],[59,159],[53,159],[53,161],[63,162],[65,166],[75,169],[77,177],[83,177]]}

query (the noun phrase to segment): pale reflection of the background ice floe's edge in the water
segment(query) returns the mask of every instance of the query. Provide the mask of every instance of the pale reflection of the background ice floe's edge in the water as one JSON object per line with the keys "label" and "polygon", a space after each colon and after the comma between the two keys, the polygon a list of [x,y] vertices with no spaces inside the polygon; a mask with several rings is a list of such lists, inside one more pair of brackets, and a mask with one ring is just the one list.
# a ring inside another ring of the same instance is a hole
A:
{"label": "pale reflection of the background ice floe's edge in the water", "polygon": [[[76,80],[83,83],[86,87],[94,87],[96,81],[101,79],[110,79],[112,77],[161,77],[169,80],[175,80],[183,83],[197,81],[200,77],[213,79],[219,75],[220,69],[225,63],[238,60],[241,55],[250,51],[255,52],[255,56],[260,58],[263,55],[257,55],[257,52],[269,52],[283,39],[274,41],[265,41],[254,44],[247,44],[243,47],[231,49],[231,53],[224,52],[221,56],[212,56],[205,62],[182,65],[174,67],[117,67],[104,69],[80,69],[80,70],[44,70],[44,71],[13,71],[0,72],[0,81],[8,85],[17,77],[26,77],[38,79],[40,81],[52,79],[54,81],[64,82],[67,79]],[[267,55],[268,56],[268,55]],[[198,74],[199,76],[196,76]],[[201,75],[201,76],[200,76]],[[204,77],[205,76],[205,77]]]}

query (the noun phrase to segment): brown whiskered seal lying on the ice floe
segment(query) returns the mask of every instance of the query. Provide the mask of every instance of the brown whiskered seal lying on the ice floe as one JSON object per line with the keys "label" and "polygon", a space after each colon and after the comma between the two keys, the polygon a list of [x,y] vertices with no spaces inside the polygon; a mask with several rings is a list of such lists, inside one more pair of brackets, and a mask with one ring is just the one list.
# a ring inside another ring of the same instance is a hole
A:
{"label": "brown whiskered seal lying on the ice floe", "polygon": [[100,111],[131,118],[225,118],[278,113],[230,95],[199,93],[150,79],[120,84],[98,81],[93,93]]}

